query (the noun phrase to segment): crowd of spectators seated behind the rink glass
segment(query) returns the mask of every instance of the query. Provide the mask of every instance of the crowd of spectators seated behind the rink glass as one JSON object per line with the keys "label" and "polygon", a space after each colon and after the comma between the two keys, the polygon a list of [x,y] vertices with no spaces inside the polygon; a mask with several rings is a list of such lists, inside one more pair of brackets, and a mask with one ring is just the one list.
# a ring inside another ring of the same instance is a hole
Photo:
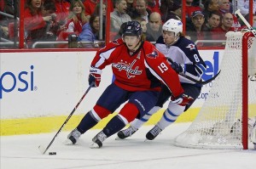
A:
{"label": "crowd of spectators seated behind the rink glass", "polygon": [[[143,26],[146,40],[155,42],[161,35],[166,20],[182,20],[181,0],[26,0],[24,9],[25,40],[28,48],[33,42],[68,41],[70,35],[77,41],[88,42],[84,48],[94,48],[94,43],[104,41],[106,8],[110,8],[110,40],[120,37],[122,25],[137,20]],[[201,3],[199,3],[201,2]],[[234,6],[236,2],[236,7]],[[197,46],[211,46],[203,40],[225,40],[227,31],[241,31],[243,25],[235,16],[235,8],[241,9],[248,20],[248,0],[186,0],[185,35]],[[12,41],[15,37],[15,17],[19,17],[19,0],[0,0],[0,37]],[[102,7],[102,16],[100,9]],[[16,12],[16,13],[15,13]],[[253,0],[253,26],[256,27],[256,0]],[[102,17],[102,18],[101,18]],[[102,25],[100,24],[102,20]],[[18,22],[16,22],[16,27]],[[102,26],[102,36],[100,28]],[[218,44],[213,43],[216,46]],[[222,45],[222,44],[220,44]],[[44,48],[67,48],[67,45],[45,45]]]}

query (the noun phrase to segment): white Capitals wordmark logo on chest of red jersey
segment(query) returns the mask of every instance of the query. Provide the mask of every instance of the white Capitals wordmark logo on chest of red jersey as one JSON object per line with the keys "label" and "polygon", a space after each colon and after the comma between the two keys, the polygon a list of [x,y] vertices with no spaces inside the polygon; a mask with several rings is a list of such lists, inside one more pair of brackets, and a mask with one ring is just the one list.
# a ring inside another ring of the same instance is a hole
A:
{"label": "white Capitals wordmark logo on chest of red jersey", "polygon": [[135,69],[132,69],[133,65],[136,63],[136,59],[134,59],[130,65],[125,64],[125,63],[117,63],[117,64],[113,64],[112,66],[116,69],[118,69],[119,71],[125,70],[126,71],[126,76],[128,77],[128,79],[130,79],[131,77],[135,77],[137,75],[141,75],[143,70],[138,70],[139,66],[136,66]]}

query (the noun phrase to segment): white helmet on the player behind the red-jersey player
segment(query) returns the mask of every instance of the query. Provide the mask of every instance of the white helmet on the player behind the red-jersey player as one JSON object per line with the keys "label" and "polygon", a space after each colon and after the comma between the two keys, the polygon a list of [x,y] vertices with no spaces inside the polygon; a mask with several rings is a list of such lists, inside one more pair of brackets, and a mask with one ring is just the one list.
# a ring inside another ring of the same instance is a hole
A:
{"label": "white helmet on the player behind the red-jersey player", "polygon": [[163,25],[163,31],[172,31],[177,36],[179,32],[183,32],[183,23],[180,20],[170,19]]}

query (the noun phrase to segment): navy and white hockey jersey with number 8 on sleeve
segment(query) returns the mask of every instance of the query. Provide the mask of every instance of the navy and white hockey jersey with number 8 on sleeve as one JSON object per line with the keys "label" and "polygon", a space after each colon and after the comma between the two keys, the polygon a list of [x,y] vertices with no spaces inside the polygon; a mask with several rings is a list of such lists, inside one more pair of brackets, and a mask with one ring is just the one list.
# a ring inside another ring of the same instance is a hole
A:
{"label": "navy and white hockey jersey with number 8 on sleeve", "polygon": [[[185,37],[179,37],[172,46],[167,46],[162,36],[155,43],[160,53],[165,54],[167,59],[177,64],[183,64],[185,67],[185,76],[189,76],[196,81],[201,80],[201,76],[207,70],[207,65],[201,59],[195,43]],[[195,84],[186,77],[179,75],[180,82]]]}

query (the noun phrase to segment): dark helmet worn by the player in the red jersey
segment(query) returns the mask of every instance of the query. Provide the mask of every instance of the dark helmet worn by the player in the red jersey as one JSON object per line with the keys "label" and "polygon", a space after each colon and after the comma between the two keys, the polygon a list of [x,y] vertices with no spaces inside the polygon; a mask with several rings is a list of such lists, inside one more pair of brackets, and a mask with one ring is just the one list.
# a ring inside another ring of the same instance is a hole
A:
{"label": "dark helmet worn by the player in the red jersey", "polygon": [[142,26],[137,21],[128,21],[123,31],[123,36],[140,36],[143,33]]}

